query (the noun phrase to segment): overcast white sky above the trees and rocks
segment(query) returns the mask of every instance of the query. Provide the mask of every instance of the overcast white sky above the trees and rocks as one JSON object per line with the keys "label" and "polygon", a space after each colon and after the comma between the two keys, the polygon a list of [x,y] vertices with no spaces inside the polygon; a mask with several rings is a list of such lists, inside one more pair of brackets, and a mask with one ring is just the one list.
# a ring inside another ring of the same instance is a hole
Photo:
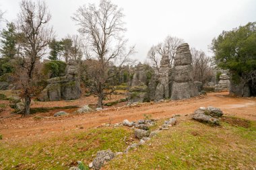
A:
{"label": "overcast white sky above the trees and rocks", "polygon": [[[34,0],[36,1],[36,0]],[[52,14],[51,24],[58,38],[78,34],[71,16],[77,8],[99,0],[46,0]],[[133,58],[146,59],[153,44],[168,35],[183,38],[191,47],[211,55],[208,46],[222,30],[256,22],[256,0],[113,0],[123,8],[129,44],[135,44]],[[18,0],[0,0],[5,19],[14,21]]]}

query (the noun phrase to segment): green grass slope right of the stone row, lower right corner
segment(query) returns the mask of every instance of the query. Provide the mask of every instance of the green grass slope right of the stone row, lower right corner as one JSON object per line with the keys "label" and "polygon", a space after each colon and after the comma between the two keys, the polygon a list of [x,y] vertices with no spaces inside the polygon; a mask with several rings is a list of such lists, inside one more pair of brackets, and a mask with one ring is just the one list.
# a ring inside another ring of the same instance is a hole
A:
{"label": "green grass slope right of the stone row, lower right corner", "polygon": [[117,157],[106,169],[253,169],[255,132],[255,122],[243,128],[187,120]]}

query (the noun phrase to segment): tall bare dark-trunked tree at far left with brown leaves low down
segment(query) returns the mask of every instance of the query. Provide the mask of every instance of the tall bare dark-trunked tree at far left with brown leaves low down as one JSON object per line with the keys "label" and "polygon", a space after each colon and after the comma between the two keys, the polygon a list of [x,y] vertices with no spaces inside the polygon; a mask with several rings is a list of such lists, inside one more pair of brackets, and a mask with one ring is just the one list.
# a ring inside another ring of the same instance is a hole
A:
{"label": "tall bare dark-trunked tree at far left with brown leaves low down", "polygon": [[18,14],[20,34],[20,82],[25,103],[25,115],[30,114],[32,95],[36,91],[36,65],[46,54],[46,47],[51,41],[52,28],[48,27],[51,15],[44,1],[22,0]]}

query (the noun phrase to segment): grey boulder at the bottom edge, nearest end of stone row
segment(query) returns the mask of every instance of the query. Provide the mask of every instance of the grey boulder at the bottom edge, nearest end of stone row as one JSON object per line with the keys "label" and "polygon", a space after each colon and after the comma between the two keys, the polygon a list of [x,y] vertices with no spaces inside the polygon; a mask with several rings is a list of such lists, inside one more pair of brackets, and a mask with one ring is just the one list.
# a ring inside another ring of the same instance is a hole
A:
{"label": "grey boulder at the bottom edge, nearest end of stone row", "polygon": [[95,170],[100,170],[100,168],[104,165],[105,162],[110,161],[114,157],[115,157],[115,153],[110,151],[110,149],[104,150],[104,151],[98,151],[96,158],[94,159],[94,161],[92,161],[92,165],[93,165],[92,168]]}

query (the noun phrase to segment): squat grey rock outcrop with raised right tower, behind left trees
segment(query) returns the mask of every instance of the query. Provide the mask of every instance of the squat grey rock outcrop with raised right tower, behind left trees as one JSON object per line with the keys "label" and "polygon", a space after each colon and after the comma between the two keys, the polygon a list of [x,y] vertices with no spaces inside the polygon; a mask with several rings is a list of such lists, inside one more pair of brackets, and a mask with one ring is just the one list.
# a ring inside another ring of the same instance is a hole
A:
{"label": "squat grey rock outcrop with raised right tower, behind left trees", "polygon": [[40,93],[40,101],[59,101],[61,99],[78,99],[81,95],[77,65],[74,60],[69,60],[65,76],[47,80],[48,85]]}

